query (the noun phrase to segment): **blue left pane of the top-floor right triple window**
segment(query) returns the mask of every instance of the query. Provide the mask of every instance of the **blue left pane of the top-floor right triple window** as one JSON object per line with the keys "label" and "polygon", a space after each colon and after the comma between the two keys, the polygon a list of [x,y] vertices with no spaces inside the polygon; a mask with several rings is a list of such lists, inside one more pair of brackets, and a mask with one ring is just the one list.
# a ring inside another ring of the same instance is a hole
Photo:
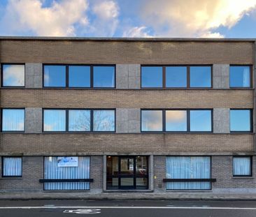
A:
{"label": "blue left pane of the top-floor right triple window", "polygon": [[141,87],[163,87],[162,67],[141,67]]}

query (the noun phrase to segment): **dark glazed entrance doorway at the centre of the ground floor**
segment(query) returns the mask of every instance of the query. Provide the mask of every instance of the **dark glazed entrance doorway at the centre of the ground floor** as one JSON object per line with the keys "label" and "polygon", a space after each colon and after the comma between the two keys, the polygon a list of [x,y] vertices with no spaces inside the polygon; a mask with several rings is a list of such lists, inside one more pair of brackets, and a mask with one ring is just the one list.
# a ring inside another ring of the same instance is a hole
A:
{"label": "dark glazed entrance doorway at the centre of the ground floor", "polygon": [[108,189],[148,189],[148,156],[107,156]]}

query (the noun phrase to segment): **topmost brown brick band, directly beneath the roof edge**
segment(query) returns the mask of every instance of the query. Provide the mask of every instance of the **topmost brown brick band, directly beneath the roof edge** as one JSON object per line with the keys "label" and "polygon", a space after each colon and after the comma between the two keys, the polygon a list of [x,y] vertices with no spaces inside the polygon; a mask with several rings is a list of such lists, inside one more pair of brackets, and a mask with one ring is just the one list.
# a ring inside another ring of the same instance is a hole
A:
{"label": "topmost brown brick band, directly beneath the roof edge", "polygon": [[13,63],[253,63],[253,42],[124,42],[0,40],[2,62]]}

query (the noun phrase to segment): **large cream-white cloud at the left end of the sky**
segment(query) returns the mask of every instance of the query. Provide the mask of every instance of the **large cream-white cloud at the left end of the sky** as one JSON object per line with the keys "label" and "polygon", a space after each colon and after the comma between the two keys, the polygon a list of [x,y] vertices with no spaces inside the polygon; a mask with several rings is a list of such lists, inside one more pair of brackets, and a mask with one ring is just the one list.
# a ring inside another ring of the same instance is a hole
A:
{"label": "large cream-white cloud at the left end of the sky", "polygon": [[0,27],[8,34],[75,36],[75,25],[88,24],[88,6],[87,0],[52,1],[50,7],[43,7],[43,0],[10,0]]}

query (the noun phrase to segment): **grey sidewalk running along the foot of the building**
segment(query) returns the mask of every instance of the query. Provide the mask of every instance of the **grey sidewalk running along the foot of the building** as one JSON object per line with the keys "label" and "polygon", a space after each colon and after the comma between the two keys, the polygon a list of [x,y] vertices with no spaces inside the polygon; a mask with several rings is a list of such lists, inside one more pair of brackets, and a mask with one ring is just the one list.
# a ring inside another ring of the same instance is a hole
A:
{"label": "grey sidewalk running along the foot of the building", "polygon": [[0,193],[0,200],[256,200],[256,193]]}

